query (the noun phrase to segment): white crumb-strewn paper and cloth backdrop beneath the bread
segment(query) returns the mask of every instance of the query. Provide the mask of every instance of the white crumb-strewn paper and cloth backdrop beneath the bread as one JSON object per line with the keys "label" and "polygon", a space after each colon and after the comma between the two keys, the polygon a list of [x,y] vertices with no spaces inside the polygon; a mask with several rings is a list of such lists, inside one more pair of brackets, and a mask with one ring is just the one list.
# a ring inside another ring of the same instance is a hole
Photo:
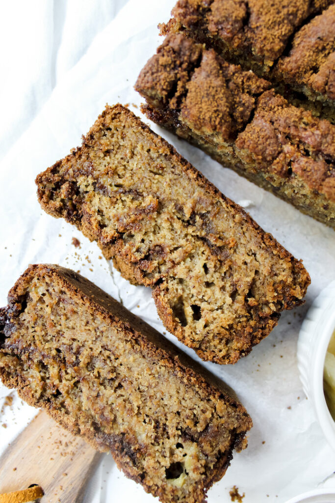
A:
{"label": "white crumb-strewn paper and cloth backdrop beneath the bread", "polygon": [[[5,35],[13,40],[17,40],[15,35],[19,37],[14,48],[8,44],[3,56],[7,73],[0,86],[0,305],[6,304],[9,289],[28,264],[57,263],[79,270],[166,333],[148,289],[130,285],[101,258],[95,243],[63,220],[42,212],[34,179],[80,144],[81,134],[88,131],[106,102],[129,103],[140,115],[138,107],[143,100],[133,85],[161,42],[157,24],[169,18],[174,0],[36,0],[29,3],[30,11],[24,9],[25,4],[13,2],[13,9],[5,13],[6,23],[4,16],[0,18]],[[21,31],[10,35],[15,22]],[[21,38],[20,33],[24,35]],[[296,362],[301,321],[315,296],[335,279],[334,231],[155,124],[150,126],[224,194],[244,206],[295,257],[302,258],[312,280],[306,304],[284,313],[279,325],[248,357],[234,366],[204,364],[236,390],[254,421],[248,449],[235,455],[225,477],[209,490],[209,503],[230,501],[233,485],[245,492],[245,503],[281,503],[324,484],[325,479],[335,489],[328,478],[335,470],[335,454],[303,394]],[[80,248],[71,244],[72,237],[80,240]],[[166,335],[181,346],[171,334]],[[183,349],[197,359],[192,350]],[[1,450],[35,414],[15,392],[12,406],[3,406],[9,393],[0,386]],[[104,456],[88,488],[86,503],[129,501],[133,497],[139,503],[154,501],[117,470],[111,456]]]}

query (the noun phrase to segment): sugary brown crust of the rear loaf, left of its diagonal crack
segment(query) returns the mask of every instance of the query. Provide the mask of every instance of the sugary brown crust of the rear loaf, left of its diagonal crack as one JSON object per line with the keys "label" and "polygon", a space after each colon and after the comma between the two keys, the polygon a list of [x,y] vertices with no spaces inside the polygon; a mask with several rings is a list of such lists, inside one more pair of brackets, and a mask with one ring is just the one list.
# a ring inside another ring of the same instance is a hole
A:
{"label": "sugary brown crust of the rear loaf, left of its diagonal crack", "polygon": [[232,50],[247,52],[265,65],[283,53],[289,37],[331,0],[178,0],[175,20],[192,33],[205,30]]}

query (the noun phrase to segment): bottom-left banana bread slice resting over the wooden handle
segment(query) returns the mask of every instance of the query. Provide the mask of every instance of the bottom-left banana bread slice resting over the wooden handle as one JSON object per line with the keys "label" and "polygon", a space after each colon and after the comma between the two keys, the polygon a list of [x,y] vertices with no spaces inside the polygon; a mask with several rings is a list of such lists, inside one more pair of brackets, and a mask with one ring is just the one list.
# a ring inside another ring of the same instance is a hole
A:
{"label": "bottom-left banana bread slice resting over the wooden handle", "polygon": [[30,266],[8,300],[4,384],[162,502],[204,502],[252,426],[228,388],[73,271]]}

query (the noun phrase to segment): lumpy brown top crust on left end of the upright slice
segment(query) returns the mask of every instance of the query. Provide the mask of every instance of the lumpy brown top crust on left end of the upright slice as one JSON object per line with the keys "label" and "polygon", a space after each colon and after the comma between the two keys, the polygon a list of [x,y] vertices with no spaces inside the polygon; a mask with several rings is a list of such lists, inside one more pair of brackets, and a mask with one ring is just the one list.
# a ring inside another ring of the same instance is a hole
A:
{"label": "lumpy brown top crust on left end of the upright slice", "polygon": [[[196,53],[197,58],[189,67],[187,78],[180,83],[177,67],[187,66],[190,53]],[[170,72],[170,68],[174,70]],[[170,93],[163,94],[157,82],[163,85],[169,82]],[[233,140],[243,129],[255,108],[257,96],[269,87],[267,80],[227,63],[213,50],[206,51],[181,34],[166,37],[157,55],[141,71],[135,86],[153,107],[160,109],[168,105],[170,110],[180,109],[181,121],[194,131],[219,134],[227,140]],[[171,94],[175,89],[176,94]]]}

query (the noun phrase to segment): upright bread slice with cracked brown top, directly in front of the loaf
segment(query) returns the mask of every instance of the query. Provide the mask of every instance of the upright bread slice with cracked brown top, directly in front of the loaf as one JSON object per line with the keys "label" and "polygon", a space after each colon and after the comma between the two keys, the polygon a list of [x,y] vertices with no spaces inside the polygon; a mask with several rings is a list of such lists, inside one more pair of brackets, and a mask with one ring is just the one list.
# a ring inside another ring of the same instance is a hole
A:
{"label": "upright bread slice with cracked brown top, directly in front of the loaf", "polygon": [[[185,39],[185,51],[183,39],[169,34],[138,77],[135,89],[147,100],[147,116],[335,227],[335,126],[289,105],[267,80],[227,63],[213,49]],[[202,57],[179,87],[176,67],[185,66],[192,47],[201,48]],[[172,66],[172,92],[162,95],[156,82],[166,81]]]}

